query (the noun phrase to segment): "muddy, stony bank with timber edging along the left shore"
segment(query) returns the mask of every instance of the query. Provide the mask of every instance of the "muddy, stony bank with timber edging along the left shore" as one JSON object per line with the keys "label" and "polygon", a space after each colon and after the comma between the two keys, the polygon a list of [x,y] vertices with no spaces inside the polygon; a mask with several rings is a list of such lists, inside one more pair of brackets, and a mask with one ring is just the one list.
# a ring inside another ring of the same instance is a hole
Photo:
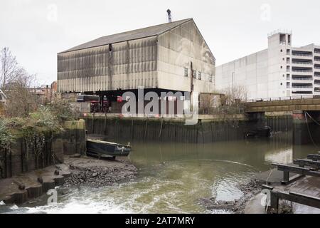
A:
{"label": "muddy, stony bank with timber edging along the left shore", "polygon": [[78,185],[101,187],[134,180],[137,175],[137,168],[126,160],[97,160],[68,155],[65,155],[64,160],[63,164],[1,179],[1,204],[31,202],[56,186],[64,190]]}

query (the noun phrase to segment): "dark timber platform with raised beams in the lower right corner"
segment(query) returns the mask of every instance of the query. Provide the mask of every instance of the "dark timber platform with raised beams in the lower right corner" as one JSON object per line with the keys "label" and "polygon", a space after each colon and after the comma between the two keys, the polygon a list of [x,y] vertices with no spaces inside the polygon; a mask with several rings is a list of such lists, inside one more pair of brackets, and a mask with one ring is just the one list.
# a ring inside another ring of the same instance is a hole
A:
{"label": "dark timber platform with raised beams in the lower right corner", "polygon": [[256,176],[265,180],[262,188],[270,190],[272,209],[279,208],[279,199],[320,209],[319,157],[319,154],[308,155],[307,159],[297,159],[289,165],[273,163],[276,169]]}

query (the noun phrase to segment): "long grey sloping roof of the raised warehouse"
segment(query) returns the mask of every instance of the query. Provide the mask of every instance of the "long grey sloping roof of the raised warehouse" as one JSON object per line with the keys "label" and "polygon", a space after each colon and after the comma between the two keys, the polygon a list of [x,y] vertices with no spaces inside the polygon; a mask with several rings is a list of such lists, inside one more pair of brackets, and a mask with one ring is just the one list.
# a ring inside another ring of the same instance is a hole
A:
{"label": "long grey sloping roof of the raised warehouse", "polygon": [[181,24],[186,23],[187,21],[191,21],[193,19],[184,19],[181,21],[174,21],[166,24],[159,24],[156,26],[146,27],[146,28],[139,28],[132,31],[126,31],[124,33],[117,33],[110,36],[102,36],[100,38],[97,38],[93,41],[89,41],[87,43],[82,43],[79,46],[75,46],[73,48],[70,48],[66,51],[63,51],[61,53],[70,52],[70,51],[77,51],[85,48],[93,48],[97,46],[104,46],[110,43],[119,43],[123,41],[131,41],[139,38],[145,38],[150,36],[157,36],[161,33],[164,33],[166,31],[171,30],[172,28],[175,28],[176,26],[180,26]]}

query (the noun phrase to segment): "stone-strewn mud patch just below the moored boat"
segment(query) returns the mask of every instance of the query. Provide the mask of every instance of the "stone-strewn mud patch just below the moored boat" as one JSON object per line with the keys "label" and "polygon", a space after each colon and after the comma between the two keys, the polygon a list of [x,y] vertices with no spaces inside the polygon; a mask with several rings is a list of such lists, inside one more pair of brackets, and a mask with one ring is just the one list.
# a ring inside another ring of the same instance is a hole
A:
{"label": "stone-strewn mud patch just below the moored boat", "polygon": [[65,157],[71,175],[63,187],[90,185],[102,187],[127,182],[137,177],[137,168],[127,160],[97,160],[92,157]]}

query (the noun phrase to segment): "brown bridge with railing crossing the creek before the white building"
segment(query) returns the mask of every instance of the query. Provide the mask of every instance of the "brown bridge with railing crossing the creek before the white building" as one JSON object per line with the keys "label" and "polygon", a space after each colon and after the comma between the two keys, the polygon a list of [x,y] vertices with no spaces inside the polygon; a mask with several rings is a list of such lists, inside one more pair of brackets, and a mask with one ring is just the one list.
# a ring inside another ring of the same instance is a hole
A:
{"label": "brown bridge with railing crossing the creek before the white building", "polygon": [[250,100],[245,103],[246,113],[285,112],[285,111],[320,111],[320,96],[306,95],[299,97],[270,98]]}

